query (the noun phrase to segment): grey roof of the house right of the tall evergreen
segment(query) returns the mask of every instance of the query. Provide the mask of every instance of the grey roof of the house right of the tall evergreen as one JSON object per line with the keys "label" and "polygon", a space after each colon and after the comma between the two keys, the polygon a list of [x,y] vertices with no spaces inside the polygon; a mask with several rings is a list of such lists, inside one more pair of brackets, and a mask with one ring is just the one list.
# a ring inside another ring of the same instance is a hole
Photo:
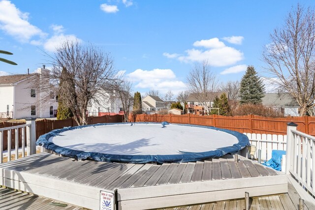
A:
{"label": "grey roof of the house right of the tall evergreen", "polygon": [[299,106],[289,93],[265,93],[262,104],[269,107]]}

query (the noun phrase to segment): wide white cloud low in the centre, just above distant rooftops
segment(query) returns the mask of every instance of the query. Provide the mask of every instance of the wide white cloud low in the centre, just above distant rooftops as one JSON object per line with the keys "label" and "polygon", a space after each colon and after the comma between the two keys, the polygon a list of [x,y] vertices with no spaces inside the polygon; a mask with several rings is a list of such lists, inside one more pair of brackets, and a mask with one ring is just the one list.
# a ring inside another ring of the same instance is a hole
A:
{"label": "wide white cloud low in the centre, just above distant rooftops", "polygon": [[135,84],[135,88],[159,90],[162,94],[168,90],[177,94],[186,88],[185,83],[178,80],[171,69],[136,69],[126,76]]}

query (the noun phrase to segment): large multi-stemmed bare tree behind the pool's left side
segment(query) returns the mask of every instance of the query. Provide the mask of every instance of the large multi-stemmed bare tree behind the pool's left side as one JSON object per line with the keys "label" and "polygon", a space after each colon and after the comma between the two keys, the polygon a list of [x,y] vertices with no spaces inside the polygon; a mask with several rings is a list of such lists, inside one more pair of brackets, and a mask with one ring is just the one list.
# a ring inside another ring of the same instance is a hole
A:
{"label": "large multi-stemmed bare tree behind the pool's left side", "polygon": [[87,124],[88,104],[92,100],[98,103],[100,94],[113,89],[116,71],[112,58],[92,44],[65,41],[51,59],[51,71],[42,74],[42,91],[54,90],[76,122]]}

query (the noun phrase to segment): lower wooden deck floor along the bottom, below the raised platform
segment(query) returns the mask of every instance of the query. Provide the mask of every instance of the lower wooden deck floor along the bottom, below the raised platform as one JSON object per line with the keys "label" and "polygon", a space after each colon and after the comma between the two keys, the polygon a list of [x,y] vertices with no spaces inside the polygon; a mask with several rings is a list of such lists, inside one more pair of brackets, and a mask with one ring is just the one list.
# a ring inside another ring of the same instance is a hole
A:
{"label": "lower wooden deck floor along the bottom, below the raised platform", "polygon": [[[288,182],[288,193],[250,198],[251,210],[298,210],[299,198],[297,190],[291,182]],[[2,210],[81,210],[82,208],[66,205],[66,207],[54,206],[51,203],[60,203],[47,198],[0,188],[0,204]],[[173,207],[164,210],[244,210],[245,200],[231,200],[198,204],[184,207]],[[314,204],[306,202],[305,210],[315,209]]]}

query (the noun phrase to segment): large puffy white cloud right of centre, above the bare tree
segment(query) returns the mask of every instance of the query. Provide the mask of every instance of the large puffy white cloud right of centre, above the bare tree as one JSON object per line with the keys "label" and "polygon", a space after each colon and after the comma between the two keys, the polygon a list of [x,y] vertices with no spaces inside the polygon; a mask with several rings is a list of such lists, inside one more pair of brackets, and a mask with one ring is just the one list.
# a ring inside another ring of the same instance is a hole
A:
{"label": "large puffy white cloud right of centre, above the bare tree", "polygon": [[187,56],[180,56],[178,60],[184,62],[208,60],[212,66],[233,65],[244,58],[241,51],[227,46],[206,51],[190,49],[186,53]]}

